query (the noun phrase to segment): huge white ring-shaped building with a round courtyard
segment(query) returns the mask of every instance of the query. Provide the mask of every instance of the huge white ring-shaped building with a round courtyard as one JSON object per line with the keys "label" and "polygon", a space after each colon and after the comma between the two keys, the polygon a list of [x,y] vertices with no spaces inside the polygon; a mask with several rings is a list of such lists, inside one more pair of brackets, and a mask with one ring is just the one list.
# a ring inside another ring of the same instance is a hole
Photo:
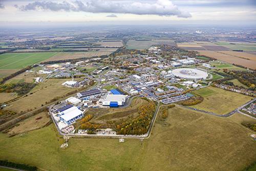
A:
{"label": "huge white ring-shaped building with a round courtyard", "polygon": [[172,71],[174,76],[185,79],[206,79],[208,73],[193,68],[179,68]]}

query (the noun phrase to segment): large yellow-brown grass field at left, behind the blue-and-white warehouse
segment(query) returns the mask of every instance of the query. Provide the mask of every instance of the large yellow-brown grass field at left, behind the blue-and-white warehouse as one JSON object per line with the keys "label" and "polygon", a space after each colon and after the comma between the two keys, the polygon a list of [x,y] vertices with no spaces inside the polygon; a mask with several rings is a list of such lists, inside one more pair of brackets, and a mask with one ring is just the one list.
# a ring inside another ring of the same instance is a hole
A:
{"label": "large yellow-brown grass field at left, behind the blue-and-white warehouse", "polygon": [[48,79],[41,82],[30,91],[32,94],[29,93],[28,96],[9,103],[5,109],[20,112],[39,108],[41,104],[45,104],[45,102],[55,97],[74,91],[75,89],[61,85],[61,83],[68,80],[70,79]]}

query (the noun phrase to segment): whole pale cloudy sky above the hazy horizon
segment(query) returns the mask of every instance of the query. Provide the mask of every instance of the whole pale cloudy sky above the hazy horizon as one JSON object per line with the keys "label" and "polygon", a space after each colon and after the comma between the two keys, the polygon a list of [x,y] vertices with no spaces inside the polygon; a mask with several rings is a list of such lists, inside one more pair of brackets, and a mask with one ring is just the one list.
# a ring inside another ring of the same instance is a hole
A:
{"label": "whole pale cloudy sky above the hazy horizon", "polygon": [[256,23],[254,0],[0,0],[2,24]]}

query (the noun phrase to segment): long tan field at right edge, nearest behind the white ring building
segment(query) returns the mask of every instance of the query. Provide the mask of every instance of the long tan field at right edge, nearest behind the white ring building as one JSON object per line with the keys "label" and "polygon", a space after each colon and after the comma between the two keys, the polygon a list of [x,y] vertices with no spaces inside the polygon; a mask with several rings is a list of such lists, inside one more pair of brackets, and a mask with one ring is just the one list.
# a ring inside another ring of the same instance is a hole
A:
{"label": "long tan field at right edge, nearest behind the white ring building", "polygon": [[241,65],[244,67],[248,67],[251,69],[256,69],[256,60],[248,60],[245,59],[246,58],[246,53],[244,58],[238,57],[238,56],[233,56],[230,54],[226,54],[226,53],[221,53],[221,52],[217,52],[217,51],[198,51],[201,55],[205,55],[205,56],[209,56],[212,58],[216,58],[218,60],[222,60],[228,63],[235,63],[237,65]]}

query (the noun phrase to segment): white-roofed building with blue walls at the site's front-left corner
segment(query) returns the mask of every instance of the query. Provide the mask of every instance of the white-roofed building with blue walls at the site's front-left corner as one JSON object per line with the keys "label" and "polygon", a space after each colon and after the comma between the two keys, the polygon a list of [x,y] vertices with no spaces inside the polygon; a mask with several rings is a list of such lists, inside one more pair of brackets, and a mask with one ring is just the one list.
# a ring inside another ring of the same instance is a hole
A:
{"label": "white-roofed building with blue walls at the site's front-left corner", "polygon": [[58,114],[60,121],[71,124],[77,119],[80,119],[83,116],[83,112],[79,110],[76,106],[72,106],[71,108],[62,111]]}

